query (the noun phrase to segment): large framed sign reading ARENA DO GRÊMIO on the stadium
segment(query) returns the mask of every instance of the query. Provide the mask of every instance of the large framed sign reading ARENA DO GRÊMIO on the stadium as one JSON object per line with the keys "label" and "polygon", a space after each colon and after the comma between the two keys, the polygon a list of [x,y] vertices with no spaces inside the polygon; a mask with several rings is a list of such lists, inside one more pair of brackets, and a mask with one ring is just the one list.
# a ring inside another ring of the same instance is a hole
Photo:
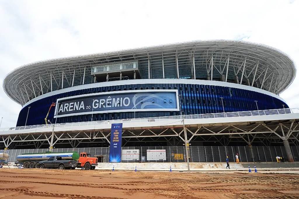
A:
{"label": "large framed sign reading ARENA DO GR\u00caMIO on the stadium", "polygon": [[54,118],[107,112],[179,111],[177,90],[129,90],[59,98]]}

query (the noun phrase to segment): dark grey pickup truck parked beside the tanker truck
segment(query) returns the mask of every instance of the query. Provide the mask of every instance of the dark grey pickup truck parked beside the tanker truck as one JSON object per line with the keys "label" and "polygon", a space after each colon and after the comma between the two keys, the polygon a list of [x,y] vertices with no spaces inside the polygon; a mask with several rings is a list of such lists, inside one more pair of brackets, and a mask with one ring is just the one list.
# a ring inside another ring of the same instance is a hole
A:
{"label": "dark grey pickup truck parked beside the tanker truck", "polygon": [[40,169],[75,169],[77,161],[74,160],[62,160],[60,156],[52,156],[48,160],[40,161],[37,168]]}

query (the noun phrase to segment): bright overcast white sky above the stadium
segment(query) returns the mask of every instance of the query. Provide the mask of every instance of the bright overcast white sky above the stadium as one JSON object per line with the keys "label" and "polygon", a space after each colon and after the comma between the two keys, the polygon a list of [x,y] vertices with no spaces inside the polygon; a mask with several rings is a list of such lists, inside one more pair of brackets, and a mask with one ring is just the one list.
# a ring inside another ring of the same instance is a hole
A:
{"label": "bright overcast white sky above the stadium", "polygon": [[[16,125],[21,106],[5,75],[30,62],[206,39],[278,48],[299,65],[299,1],[0,0],[0,120]],[[299,107],[299,75],[280,96]]]}

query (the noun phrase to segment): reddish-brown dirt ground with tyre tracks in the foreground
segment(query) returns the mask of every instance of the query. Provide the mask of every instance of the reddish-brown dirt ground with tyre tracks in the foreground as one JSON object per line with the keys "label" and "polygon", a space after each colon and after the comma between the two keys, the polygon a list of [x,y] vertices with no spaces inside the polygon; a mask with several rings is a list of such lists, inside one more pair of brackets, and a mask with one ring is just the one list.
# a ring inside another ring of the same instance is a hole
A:
{"label": "reddish-brown dirt ground with tyre tracks in the foreground", "polygon": [[1,169],[0,198],[298,198],[298,174]]}

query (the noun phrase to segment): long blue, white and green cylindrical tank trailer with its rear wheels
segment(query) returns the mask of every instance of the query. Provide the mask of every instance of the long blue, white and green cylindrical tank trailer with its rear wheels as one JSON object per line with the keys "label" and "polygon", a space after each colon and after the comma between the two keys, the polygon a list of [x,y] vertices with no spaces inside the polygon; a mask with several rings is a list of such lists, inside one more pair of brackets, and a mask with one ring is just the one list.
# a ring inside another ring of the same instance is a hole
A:
{"label": "long blue, white and green cylindrical tank trailer with its rear wheels", "polygon": [[24,164],[24,168],[37,168],[37,164],[39,161],[48,160],[52,156],[60,156],[62,160],[75,160],[79,159],[79,154],[77,152],[60,152],[60,153],[53,153],[53,152],[46,152],[46,153],[30,153],[30,154],[22,154],[18,155],[16,160],[17,163]]}

